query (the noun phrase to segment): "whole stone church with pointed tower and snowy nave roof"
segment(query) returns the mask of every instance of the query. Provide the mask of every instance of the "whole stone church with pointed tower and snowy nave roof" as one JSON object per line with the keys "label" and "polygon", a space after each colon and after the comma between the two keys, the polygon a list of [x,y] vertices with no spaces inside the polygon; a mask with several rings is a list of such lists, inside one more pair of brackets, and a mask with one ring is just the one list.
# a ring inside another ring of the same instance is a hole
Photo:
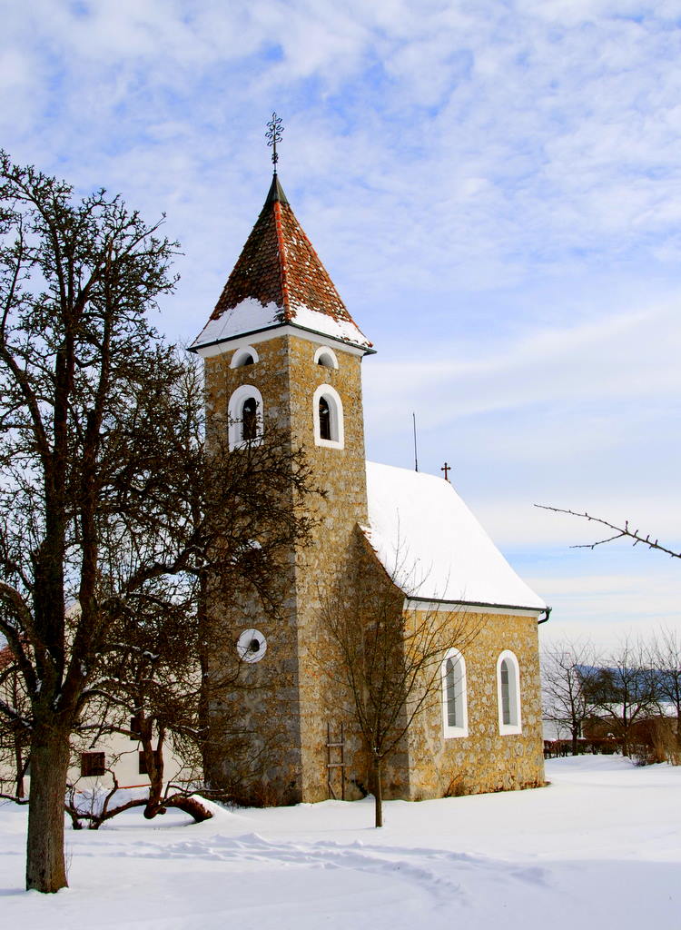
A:
{"label": "whole stone church with pointed tower and snowy nave roof", "polygon": [[[228,432],[230,448],[276,427],[304,447],[326,492],[309,504],[313,538],[290,553],[279,616],[269,618],[245,596],[220,608],[216,621],[254,685],[238,709],[229,702],[212,708],[214,720],[238,717],[261,761],[260,793],[245,799],[352,799],[370,788],[352,708],[320,674],[320,617],[334,586],[377,578],[398,591],[412,618],[442,612],[465,616],[476,629],[461,648],[443,642],[436,699],[386,765],[384,795],[417,800],[541,785],[538,624],[548,618],[546,605],[447,480],[365,460],[361,365],[375,350],[276,171],[191,348],[205,362],[208,418]],[[219,666],[220,655],[214,660]],[[220,756],[220,747],[216,753],[210,777],[229,783],[234,759],[227,750]]]}

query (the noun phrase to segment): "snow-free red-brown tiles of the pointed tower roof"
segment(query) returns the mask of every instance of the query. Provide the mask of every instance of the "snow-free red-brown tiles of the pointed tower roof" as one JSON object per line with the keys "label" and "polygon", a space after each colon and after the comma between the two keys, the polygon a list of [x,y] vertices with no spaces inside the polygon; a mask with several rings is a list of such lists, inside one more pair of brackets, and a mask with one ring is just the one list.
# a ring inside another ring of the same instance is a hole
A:
{"label": "snow-free red-brown tiles of the pointed tower roof", "polygon": [[282,323],[291,323],[302,306],[355,325],[276,175],[210,319],[219,319],[247,298],[263,306],[274,303]]}

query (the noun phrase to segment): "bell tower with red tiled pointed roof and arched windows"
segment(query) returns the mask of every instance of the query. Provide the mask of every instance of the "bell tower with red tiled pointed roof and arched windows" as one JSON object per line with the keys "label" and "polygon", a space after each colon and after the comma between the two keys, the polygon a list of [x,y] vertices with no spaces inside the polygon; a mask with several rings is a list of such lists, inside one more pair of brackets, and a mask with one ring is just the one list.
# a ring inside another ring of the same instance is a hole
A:
{"label": "bell tower with red tiled pointed roof and arched windows", "polygon": [[[343,577],[355,527],[367,523],[360,369],[374,350],[288,203],[276,173],[278,138],[260,216],[191,349],[205,361],[209,428],[226,431],[235,452],[277,430],[292,448],[303,447],[313,483],[325,492],[303,503],[314,518],[312,538],[290,553],[277,618],[247,594],[214,618],[252,686],[211,708],[215,722],[232,715],[246,740],[244,799],[293,804],[327,797],[333,699],[320,694],[320,598]],[[224,658],[216,652],[216,671]],[[211,780],[236,784],[231,753],[220,756],[218,747],[216,758]]]}

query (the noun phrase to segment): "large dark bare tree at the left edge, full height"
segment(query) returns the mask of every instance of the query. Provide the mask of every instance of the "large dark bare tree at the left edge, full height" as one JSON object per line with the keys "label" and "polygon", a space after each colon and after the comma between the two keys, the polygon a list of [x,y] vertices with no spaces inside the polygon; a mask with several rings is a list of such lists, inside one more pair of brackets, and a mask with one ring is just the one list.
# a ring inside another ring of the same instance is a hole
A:
{"label": "large dark bare tree at the left edge, full height", "polygon": [[101,527],[134,525],[124,499],[164,473],[155,410],[177,368],[145,316],[174,284],[158,228],[0,154],[0,631],[31,703],[26,883],[41,891],[66,884],[69,737],[109,615]]}

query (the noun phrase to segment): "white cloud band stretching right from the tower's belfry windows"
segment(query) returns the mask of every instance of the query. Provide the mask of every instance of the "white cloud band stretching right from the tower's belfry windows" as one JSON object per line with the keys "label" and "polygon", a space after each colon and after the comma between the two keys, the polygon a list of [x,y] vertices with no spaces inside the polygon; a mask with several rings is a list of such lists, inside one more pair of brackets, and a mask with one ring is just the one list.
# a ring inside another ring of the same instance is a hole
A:
{"label": "white cloud band stretching right from the tower's belfry windows", "polygon": [[674,302],[503,341],[497,334],[463,341],[455,333],[431,348],[428,334],[415,332],[409,356],[367,363],[372,416],[389,429],[398,411],[416,407],[430,429],[503,410],[656,404],[681,392],[679,300],[681,293]]}

